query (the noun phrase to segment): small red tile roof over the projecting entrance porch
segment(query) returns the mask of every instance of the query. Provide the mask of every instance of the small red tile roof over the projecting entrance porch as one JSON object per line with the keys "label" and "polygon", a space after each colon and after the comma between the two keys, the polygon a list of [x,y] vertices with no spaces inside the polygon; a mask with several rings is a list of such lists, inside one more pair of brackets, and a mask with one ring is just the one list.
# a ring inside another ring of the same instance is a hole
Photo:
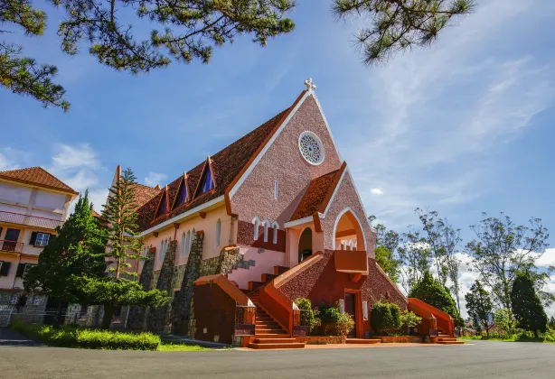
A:
{"label": "small red tile roof over the projecting entrance porch", "polygon": [[346,164],[343,162],[340,169],[313,179],[308,185],[303,199],[301,199],[296,206],[290,221],[310,217],[314,215],[315,212],[324,213],[345,168]]}

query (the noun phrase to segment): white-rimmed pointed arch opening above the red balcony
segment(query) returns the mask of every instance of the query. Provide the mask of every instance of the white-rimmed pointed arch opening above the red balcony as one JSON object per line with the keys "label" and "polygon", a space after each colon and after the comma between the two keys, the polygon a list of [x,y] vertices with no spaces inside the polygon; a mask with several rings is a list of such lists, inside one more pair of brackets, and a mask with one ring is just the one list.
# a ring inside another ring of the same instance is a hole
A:
{"label": "white-rimmed pointed arch opening above the red balcony", "polygon": [[366,251],[361,223],[351,208],[343,209],[335,220],[334,250]]}

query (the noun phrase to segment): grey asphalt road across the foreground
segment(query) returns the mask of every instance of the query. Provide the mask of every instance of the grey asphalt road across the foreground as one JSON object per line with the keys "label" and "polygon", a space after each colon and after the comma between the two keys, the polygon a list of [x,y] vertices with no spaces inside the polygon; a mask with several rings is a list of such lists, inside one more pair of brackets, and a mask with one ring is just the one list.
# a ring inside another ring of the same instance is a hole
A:
{"label": "grey asphalt road across the foreground", "polygon": [[[0,338],[1,339],[1,338]],[[555,344],[136,352],[0,347],[0,378],[555,378]]]}

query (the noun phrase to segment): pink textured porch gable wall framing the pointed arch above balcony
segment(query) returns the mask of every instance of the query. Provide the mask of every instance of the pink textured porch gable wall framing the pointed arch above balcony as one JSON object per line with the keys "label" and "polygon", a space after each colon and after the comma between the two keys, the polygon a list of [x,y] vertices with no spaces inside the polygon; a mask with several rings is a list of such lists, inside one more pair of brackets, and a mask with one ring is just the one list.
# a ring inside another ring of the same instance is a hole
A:
{"label": "pink textured porch gable wall framing the pointed arch above balcony", "polygon": [[[322,230],[324,230],[324,247],[325,249],[334,249],[334,225],[335,220],[345,208],[351,208],[353,214],[358,217],[364,236],[366,236],[366,251],[370,257],[374,257],[374,247],[376,245],[376,236],[370,228],[370,224],[364,215],[364,208],[354,188],[353,179],[349,172],[345,172],[343,180],[339,185],[339,189],[335,193],[334,199],[328,209],[325,218],[321,219]],[[335,246],[339,250],[339,246]],[[363,242],[358,242],[358,250],[364,250]]]}

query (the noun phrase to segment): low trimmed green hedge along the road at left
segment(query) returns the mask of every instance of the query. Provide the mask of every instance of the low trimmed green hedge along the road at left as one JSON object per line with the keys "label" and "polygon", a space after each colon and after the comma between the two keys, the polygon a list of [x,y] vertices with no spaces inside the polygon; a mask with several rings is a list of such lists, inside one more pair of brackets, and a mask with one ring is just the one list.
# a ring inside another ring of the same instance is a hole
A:
{"label": "low trimmed green hedge along the road at left", "polygon": [[11,328],[46,345],[55,347],[99,348],[106,350],[156,350],[161,344],[152,333],[121,333],[110,330],[80,329],[63,326],[31,325],[14,320]]}

